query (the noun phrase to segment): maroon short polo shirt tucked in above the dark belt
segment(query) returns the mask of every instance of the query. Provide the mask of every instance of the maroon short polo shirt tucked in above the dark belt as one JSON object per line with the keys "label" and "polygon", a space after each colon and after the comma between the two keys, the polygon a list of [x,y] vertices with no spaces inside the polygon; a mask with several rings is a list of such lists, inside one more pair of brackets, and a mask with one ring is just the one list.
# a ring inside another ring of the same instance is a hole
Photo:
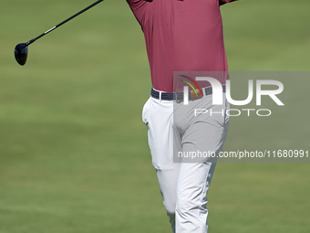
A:
{"label": "maroon short polo shirt tucked in above the dark belt", "polygon": [[233,1],[127,0],[144,33],[154,89],[173,91],[173,71],[227,71],[220,5]]}

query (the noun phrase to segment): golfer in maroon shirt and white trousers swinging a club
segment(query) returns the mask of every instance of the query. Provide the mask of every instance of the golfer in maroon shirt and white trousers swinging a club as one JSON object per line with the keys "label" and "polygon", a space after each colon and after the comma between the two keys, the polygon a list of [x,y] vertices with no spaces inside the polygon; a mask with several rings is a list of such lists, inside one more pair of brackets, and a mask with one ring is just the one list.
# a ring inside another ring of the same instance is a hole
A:
{"label": "golfer in maroon shirt and white trousers swinging a club", "polygon": [[[234,0],[127,0],[144,33],[152,89],[142,112],[148,126],[152,164],[156,169],[163,204],[176,233],[208,231],[207,191],[215,164],[203,161],[174,163],[181,152],[222,151],[228,117],[193,116],[173,108],[176,98],[173,73],[177,71],[228,70],[222,36],[220,5]],[[216,71],[216,72],[215,72]],[[227,75],[214,75],[225,91]],[[186,78],[184,78],[186,79]],[[200,109],[224,112],[212,105],[212,87],[202,88],[202,98],[190,101]],[[179,100],[181,101],[181,100]],[[181,104],[181,103],[179,103]],[[175,118],[175,115],[178,118]],[[178,121],[176,121],[178,119]],[[185,154],[185,153],[184,153]]]}

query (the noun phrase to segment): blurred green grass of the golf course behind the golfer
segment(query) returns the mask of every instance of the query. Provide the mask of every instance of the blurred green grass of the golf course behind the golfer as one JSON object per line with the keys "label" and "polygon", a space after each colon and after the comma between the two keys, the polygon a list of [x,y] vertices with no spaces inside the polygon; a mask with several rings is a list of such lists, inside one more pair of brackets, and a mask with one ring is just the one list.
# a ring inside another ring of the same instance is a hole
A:
{"label": "blurred green grass of the golf course behind the golfer", "polygon": [[[91,3],[0,2],[0,233],[171,232],[141,122],[151,87],[144,39],[125,0],[97,5],[31,45],[25,67],[15,62],[17,43]],[[309,7],[223,5],[230,69],[309,70]],[[225,149],[306,149],[300,87],[297,119],[233,119]],[[210,232],[309,232],[309,167],[218,164]]]}

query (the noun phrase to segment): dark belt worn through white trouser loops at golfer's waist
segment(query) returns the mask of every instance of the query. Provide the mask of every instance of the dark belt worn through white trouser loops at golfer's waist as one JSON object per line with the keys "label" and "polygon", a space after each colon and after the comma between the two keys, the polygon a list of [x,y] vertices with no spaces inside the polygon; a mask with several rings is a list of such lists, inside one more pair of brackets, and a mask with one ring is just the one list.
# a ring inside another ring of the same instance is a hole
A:
{"label": "dark belt worn through white trouser loops at golfer's waist", "polygon": [[[201,99],[203,95],[212,95],[212,87],[202,88],[202,94],[199,90],[196,90],[196,93],[193,90],[189,90],[189,101],[194,101],[197,99]],[[160,92],[161,92],[161,98],[160,98]],[[226,92],[226,85],[222,84],[222,92]],[[182,102],[184,100],[184,92],[183,91],[176,91],[176,92],[162,92],[158,90],[154,90],[151,88],[150,90],[150,96],[152,98],[155,98],[157,100],[161,101],[177,101]]]}

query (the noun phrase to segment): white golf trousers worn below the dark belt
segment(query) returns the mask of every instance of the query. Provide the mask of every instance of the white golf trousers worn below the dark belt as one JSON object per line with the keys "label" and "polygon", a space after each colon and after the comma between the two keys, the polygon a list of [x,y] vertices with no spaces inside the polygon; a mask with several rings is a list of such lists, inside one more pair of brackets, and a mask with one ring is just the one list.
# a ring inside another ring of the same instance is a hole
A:
{"label": "white golf trousers worn below the dark belt", "polygon": [[[213,108],[220,112],[221,108],[229,107],[225,99],[224,107],[212,106],[211,96],[202,99],[201,105],[196,100],[198,105],[192,108]],[[217,117],[210,117],[205,114],[195,122],[191,114],[176,111],[178,109],[173,108],[173,101],[160,101],[152,97],[143,107],[142,119],[148,126],[152,164],[157,172],[172,231],[207,233],[207,192],[216,163],[194,160],[174,163],[173,153],[176,150],[221,152],[228,131],[228,116],[218,114]],[[173,112],[180,116],[173,117]]]}

